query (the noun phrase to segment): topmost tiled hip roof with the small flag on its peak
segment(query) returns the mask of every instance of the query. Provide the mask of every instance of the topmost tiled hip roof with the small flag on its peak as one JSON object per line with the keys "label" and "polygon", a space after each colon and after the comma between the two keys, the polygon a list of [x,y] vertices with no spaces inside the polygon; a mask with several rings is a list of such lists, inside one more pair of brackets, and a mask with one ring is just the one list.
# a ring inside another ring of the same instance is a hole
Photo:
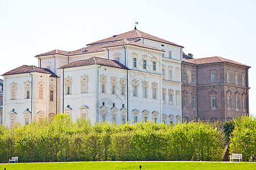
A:
{"label": "topmost tiled hip roof with the small flag on its peak", "polygon": [[100,40],[100,41],[96,41],[96,42],[92,42],[90,44],[87,45],[93,45],[93,44],[101,44],[104,42],[113,42],[113,41],[120,41],[120,40],[124,40],[124,39],[138,39],[138,38],[144,38],[144,39],[148,39],[148,40],[154,40],[154,41],[158,41],[158,42],[164,42],[166,44],[170,44],[170,45],[175,45],[175,46],[180,46],[183,47],[181,45],[175,44],[174,42],[170,42],[164,39],[160,39],[159,37],[156,36],[152,36],[148,33],[139,31],[137,29],[134,29],[132,31],[129,32],[125,32],[125,33],[121,33],[119,35],[114,35],[112,37]]}

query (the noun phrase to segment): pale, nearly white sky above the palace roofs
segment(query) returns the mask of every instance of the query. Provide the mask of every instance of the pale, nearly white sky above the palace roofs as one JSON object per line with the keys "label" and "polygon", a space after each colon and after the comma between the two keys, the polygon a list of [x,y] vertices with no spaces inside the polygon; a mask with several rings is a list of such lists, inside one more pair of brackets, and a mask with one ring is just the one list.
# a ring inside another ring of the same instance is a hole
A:
{"label": "pale, nearly white sky above the palace roofs", "polygon": [[0,74],[38,66],[37,54],[131,31],[138,22],[140,31],[182,45],[194,58],[220,56],[251,66],[249,108],[256,115],[255,9],[254,0],[0,0]]}

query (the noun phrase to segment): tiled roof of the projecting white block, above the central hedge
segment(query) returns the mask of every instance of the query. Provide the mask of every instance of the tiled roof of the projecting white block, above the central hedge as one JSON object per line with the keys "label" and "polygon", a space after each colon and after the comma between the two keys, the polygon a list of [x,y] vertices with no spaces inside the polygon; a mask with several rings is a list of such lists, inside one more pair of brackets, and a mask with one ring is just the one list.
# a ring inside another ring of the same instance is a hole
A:
{"label": "tiled roof of the projecting white block, above the central hedge", "polygon": [[119,69],[126,69],[126,70],[128,69],[126,66],[122,65],[118,61],[115,61],[112,59],[106,59],[106,58],[98,58],[98,57],[92,57],[92,58],[88,58],[88,59],[74,61],[67,65],[61,66],[60,69],[68,68],[68,67],[88,66],[88,65],[94,65],[94,64],[115,67],[115,68],[119,68]]}

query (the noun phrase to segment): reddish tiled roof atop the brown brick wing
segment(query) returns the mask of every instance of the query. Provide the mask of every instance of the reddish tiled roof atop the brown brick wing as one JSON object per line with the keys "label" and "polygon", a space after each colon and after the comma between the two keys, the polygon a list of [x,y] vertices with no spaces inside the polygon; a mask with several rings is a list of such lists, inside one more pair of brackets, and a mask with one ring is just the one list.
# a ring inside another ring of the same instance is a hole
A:
{"label": "reddish tiled roof atop the brown brick wing", "polygon": [[233,61],[231,59],[226,59],[226,58],[222,58],[222,57],[218,57],[218,56],[205,57],[205,58],[196,58],[196,59],[185,59],[185,58],[183,58],[183,61],[188,62],[188,63],[193,63],[193,64],[199,64],[199,65],[207,64],[207,63],[216,63],[216,62],[229,62],[229,63],[233,63],[233,64],[236,64],[236,65],[250,67],[250,66],[247,66],[247,65],[243,65],[242,63]]}

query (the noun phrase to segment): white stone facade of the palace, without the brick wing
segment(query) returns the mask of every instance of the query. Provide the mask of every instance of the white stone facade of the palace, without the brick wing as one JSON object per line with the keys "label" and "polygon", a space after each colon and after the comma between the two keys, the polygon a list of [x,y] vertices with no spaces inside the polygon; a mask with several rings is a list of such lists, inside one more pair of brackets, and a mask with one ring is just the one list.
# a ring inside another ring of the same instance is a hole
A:
{"label": "white stone facade of the palace, without the brick wing", "polygon": [[[181,121],[183,47],[144,38],[138,38],[134,44],[112,46],[113,43],[105,43],[109,46],[96,52],[69,55],[70,52],[56,50],[36,56],[39,67],[50,69],[59,78],[35,72],[4,75],[4,124],[10,126],[11,121],[15,121],[24,125],[57,113],[68,113],[74,121],[85,117],[93,123],[151,120],[173,124]],[[97,45],[102,44],[94,44],[93,48]],[[115,60],[128,69],[98,63],[61,68],[91,57]],[[26,99],[26,82],[28,88],[33,88],[30,99]],[[40,83],[43,99],[39,99]],[[16,88],[13,100],[11,88]],[[55,100],[50,102],[51,89]]]}

